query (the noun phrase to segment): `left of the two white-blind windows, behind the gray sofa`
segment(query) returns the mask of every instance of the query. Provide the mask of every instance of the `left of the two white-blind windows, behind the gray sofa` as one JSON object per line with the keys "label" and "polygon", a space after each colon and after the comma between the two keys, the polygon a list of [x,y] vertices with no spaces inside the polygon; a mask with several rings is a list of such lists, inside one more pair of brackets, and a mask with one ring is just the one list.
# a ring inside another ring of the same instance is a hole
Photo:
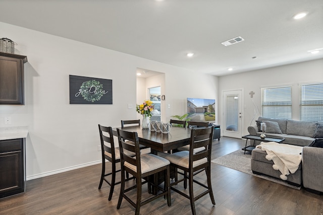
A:
{"label": "left of the two white-blind windows, behind the gray sofa", "polygon": [[292,119],[292,87],[261,88],[261,115]]}

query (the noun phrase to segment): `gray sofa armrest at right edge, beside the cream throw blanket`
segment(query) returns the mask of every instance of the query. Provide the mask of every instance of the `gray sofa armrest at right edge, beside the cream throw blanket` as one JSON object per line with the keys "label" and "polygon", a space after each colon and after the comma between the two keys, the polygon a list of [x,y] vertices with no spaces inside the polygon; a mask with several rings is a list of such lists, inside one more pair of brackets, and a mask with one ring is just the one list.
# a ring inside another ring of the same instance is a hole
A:
{"label": "gray sofa armrest at right edge, beside the cream throw blanket", "polygon": [[303,147],[303,185],[314,191],[323,192],[323,148]]}

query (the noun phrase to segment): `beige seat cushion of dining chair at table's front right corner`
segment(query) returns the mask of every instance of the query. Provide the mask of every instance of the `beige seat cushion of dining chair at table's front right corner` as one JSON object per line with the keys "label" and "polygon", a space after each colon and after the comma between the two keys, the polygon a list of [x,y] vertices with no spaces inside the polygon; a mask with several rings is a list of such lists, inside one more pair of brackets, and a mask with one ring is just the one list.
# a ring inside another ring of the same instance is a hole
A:
{"label": "beige seat cushion of dining chair at table's front right corner", "polygon": [[[188,168],[188,164],[189,164],[189,152],[188,151],[181,151],[181,152],[173,153],[169,156],[166,156],[165,158],[173,164]],[[206,162],[207,162],[206,158],[194,161],[193,168],[198,165],[204,164]]]}

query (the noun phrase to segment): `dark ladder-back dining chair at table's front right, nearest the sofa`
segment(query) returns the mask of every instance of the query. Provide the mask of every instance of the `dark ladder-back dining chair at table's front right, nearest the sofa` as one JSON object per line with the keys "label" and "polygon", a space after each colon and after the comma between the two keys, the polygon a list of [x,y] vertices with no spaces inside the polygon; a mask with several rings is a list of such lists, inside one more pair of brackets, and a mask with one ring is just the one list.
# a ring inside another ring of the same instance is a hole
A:
{"label": "dark ladder-back dining chair at table's front right, nearest the sofa", "polygon": [[[182,196],[190,199],[192,213],[196,214],[195,211],[195,201],[202,196],[209,194],[211,202],[213,205],[216,204],[214,200],[212,184],[211,184],[211,150],[212,150],[212,138],[213,138],[213,128],[196,128],[191,130],[190,137],[190,150],[182,151],[166,156],[165,158],[171,162],[171,166],[174,166],[176,169],[181,169],[187,174],[183,174],[183,178],[171,183],[171,189],[175,192],[181,194]],[[203,147],[204,150],[198,153],[194,153],[194,149]],[[204,172],[205,170],[207,185],[205,182],[200,180],[195,180],[193,176],[198,173]],[[179,174],[182,174],[179,172]],[[182,192],[181,190],[174,187],[174,185],[188,179],[189,182],[189,195]],[[193,182],[206,188],[204,192],[199,195],[193,194]],[[195,196],[195,197],[194,197]]]}

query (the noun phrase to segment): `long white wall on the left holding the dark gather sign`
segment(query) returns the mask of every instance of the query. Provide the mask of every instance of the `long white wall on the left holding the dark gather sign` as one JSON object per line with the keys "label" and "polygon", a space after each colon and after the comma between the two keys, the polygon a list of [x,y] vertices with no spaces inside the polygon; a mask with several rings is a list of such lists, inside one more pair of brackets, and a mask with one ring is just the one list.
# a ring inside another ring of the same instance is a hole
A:
{"label": "long white wall on the left holding the dark gather sign", "polygon": [[[137,116],[137,67],[165,73],[168,119],[186,112],[186,97],[218,97],[214,76],[6,23],[0,22],[0,29],[0,37],[18,43],[15,53],[28,58],[25,105],[0,105],[0,127],[8,126],[5,116],[12,117],[10,126],[29,126],[27,179],[100,162],[97,124],[116,127]],[[113,80],[113,105],[70,105],[69,75]]]}

